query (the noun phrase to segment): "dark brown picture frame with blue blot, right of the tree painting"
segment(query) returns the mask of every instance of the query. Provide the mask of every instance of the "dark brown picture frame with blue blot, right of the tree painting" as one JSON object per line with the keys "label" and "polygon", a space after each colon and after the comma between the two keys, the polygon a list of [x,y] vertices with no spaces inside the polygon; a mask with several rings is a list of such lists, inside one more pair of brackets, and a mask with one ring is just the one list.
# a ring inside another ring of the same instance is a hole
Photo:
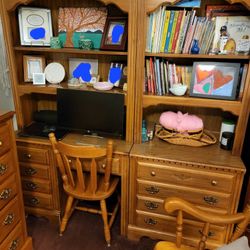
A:
{"label": "dark brown picture frame with blue blot, right of the tree painting", "polygon": [[127,36],[127,17],[107,17],[102,36],[101,49],[124,51],[126,49]]}

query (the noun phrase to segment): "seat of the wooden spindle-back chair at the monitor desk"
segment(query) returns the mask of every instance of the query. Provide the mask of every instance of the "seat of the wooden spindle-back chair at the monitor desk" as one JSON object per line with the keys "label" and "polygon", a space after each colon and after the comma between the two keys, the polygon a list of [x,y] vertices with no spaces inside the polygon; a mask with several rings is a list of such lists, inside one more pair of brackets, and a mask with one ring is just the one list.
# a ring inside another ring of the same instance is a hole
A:
{"label": "seat of the wooden spindle-back chair at the monitor desk", "polygon": [[110,177],[110,183],[109,183],[109,189],[105,190],[104,186],[104,175],[98,175],[98,191],[93,194],[91,192],[91,181],[90,181],[90,175],[86,174],[85,175],[85,191],[82,191],[78,188],[78,185],[76,184],[76,187],[73,189],[71,186],[66,186],[65,184],[63,185],[63,188],[66,193],[69,195],[74,196],[77,199],[82,199],[82,200],[104,200],[111,196],[113,192],[115,191],[117,184],[119,182],[119,177],[116,176],[111,176]]}

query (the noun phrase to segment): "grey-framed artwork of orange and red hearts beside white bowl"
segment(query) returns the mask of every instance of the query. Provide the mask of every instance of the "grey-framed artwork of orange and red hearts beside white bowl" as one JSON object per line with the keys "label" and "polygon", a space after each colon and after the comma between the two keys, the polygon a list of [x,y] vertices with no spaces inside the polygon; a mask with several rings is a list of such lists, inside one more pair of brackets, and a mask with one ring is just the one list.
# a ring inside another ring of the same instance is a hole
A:
{"label": "grey-framed artwork of orange and red hearts beside white bowl", "polygon": [[235,100],[240,63],[194,62],[190,96]]}

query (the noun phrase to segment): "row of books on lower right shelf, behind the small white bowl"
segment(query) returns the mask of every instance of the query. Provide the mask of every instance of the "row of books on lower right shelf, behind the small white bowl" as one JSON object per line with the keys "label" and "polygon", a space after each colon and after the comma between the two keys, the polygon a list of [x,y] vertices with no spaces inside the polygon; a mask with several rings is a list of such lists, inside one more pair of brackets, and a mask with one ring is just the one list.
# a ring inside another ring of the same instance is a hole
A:
{"label": "row of books on lower right shelf, behind the small white bowl", "polygon": [[164,58],[146,58],[144,92],[166,95],[175,83],[186,84],[189,88],[192,66],[169,63]]}

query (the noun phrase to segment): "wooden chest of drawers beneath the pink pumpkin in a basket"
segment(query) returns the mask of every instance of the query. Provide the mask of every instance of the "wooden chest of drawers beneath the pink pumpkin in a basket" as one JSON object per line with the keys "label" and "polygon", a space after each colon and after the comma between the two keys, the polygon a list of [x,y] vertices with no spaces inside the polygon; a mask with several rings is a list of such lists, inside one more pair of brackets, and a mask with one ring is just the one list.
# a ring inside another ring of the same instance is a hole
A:
{"label": "wooden chest of drawers beneath the pink pumpkin in a basket", "polygon": [[[144,147],[151,148],[150,144],[145,144]],[[135,145],[130,158],[129,238],[149,236],[174,240],[176,219],[163,208],[167,197],[180,197],[205,211],[218,214],[230,214],[237,208],[245,171],[240,160],[238,167],[232,168],[219,163],[200,164],[199,158],[196,162],[191,161],[191,158],[186,161],[172,160],[170,156],[152,158],[145,151],[138,154],[139,150],[142,150],[142,145]],[[153,150],[152,146],[152,155]],[[195,244],[202,226],[202,223],[191,216],[186,216],[183,228],[185,241]],[[209,247],[223,243],[231,230],[231,226],[212,225]]]}

